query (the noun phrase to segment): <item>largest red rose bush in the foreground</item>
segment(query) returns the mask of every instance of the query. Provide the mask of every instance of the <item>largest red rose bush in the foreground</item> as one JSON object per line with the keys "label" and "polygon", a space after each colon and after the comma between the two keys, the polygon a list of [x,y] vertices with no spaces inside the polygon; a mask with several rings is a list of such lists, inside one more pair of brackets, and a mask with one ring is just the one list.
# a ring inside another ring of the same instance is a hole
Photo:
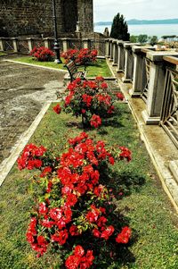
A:
{"label": "largest red rose bush in the foreground", "polygon": [[[45,165],[49,160],[45,161],[44,147],[30,144],[18,159],[20,170],[29,169],[31,159],[41,157],[42,162],[39,167],[33,167],[40,170],[34,183],[41,191],[27,231],[27,240],[37,256],[42,256],[49,245],[53,249],[68,246],[70,253],[75,242],[78,244],[80,239],[82,243],[85,237],[125,244],[131,236],[128,227],[118,232],[111,223],[112,198],[101,184],[101,172],[107,169],[107,164],[130,161],[131,152],[126,147],[107,147],[101,140],[94,142],[85,132],[68,142],[68,150],[57,158],[53,168]],[[91,246],[87,241],[86,253],[80,245],[74,248],[65,262],[66,268],[84,269],[93,265]]]}

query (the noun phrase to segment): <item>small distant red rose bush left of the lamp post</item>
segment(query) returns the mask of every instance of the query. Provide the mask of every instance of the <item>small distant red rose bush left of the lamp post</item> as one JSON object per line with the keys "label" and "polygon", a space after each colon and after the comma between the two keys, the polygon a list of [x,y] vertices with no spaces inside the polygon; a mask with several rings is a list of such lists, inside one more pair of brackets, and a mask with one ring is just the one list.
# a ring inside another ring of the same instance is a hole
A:
{"label": "small distant red rose bush left of the lamp post", "polygon": [[39,62],[50,62],[53,61],[53,56],[54,53],[51,49],[44,47],[44,46],[39,46],[39,47],[34,47],[31,52],[30,55],[32,55],[36,61]]}

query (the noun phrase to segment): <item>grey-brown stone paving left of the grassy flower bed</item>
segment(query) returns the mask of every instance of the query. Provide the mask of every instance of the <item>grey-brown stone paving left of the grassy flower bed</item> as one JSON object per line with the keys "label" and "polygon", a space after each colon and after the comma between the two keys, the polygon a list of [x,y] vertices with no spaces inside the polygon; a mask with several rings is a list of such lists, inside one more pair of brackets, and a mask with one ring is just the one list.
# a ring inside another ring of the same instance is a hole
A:
{"label": "grey-brown stone paving left of the grassy flower bed", "polygon": [[0,163],[10,156],[45,101],[56,99],[64,74],[0,61]]}

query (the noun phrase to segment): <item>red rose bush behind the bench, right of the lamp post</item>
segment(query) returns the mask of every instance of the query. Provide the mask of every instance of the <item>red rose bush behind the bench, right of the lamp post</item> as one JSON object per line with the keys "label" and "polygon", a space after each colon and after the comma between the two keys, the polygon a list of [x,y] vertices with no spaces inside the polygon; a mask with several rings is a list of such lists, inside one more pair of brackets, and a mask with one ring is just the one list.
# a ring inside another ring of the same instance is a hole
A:
{"label": "red rose bush behind the bench, right of the lamp post", "polygon": [[73,60],[76,64],[85,65],[95,62],[97,55],[98,51],[96,49],[82,48],[80,50],[69,49],[67,52],[61,54],[61,57],[66,60],[66,63],[69,63],[69,60]]}

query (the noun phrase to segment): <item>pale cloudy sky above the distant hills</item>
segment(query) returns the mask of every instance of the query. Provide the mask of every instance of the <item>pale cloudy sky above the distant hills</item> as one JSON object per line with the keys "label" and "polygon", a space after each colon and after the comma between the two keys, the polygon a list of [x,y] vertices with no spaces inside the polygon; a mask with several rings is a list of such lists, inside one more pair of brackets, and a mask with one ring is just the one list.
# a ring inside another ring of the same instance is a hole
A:
{"label": "pale cloudy sky above the distant hills", "polygon": [[93,0],[94,21],[112,21],[117,13],[125,20],[178,18],[178,0]]}

